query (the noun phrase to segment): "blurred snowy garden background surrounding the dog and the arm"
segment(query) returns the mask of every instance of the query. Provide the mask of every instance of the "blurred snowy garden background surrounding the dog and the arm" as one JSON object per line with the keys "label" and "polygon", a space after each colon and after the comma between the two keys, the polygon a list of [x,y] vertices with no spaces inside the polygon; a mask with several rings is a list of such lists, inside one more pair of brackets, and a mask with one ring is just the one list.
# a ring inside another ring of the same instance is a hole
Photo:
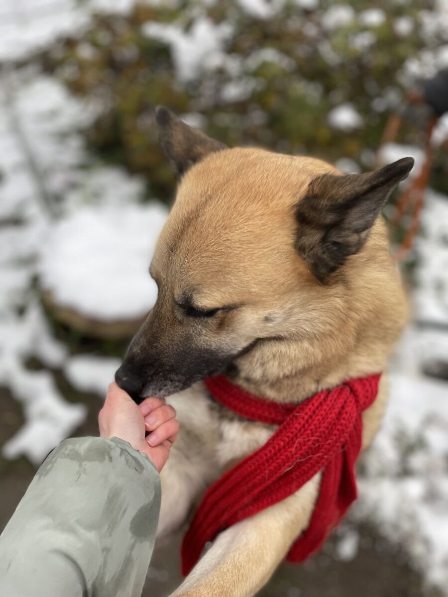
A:
{"label": "blurred snowy garden background surrounding the dog and the arm", "polygon": [[[230,146],[346,173],[415,158],[385,210],[412,321],[360,499],[260,595],[448,595],[448,88],[427,83],[446,67],[446,0],[0,0],[0,530],[48,451],[96,435],[157,297],[164,104]],[[179,541],[146,597],[179,584]]]}

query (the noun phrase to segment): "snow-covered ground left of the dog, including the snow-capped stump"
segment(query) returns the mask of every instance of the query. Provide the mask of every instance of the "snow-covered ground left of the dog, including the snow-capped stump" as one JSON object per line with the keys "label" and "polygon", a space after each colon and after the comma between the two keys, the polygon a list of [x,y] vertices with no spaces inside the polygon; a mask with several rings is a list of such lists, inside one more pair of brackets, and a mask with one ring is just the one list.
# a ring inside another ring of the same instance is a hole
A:
{"label": "snow-covered ground left of the dog, including the snow-capped stump", "polygon": [[[39,294],[90,318],[122,320],[141,318],[157,294],[148,266],[167,209],[140,203],[139,179],[91,165],[77,132],[91,108],[33,69],[0,80],[0,384],[26,418],[2,453],[35,464],[86,414],[65,401],[50,370],[101,395],[117,367],[115,359],[70,358],[51,336]],[[47,370],[27,370],[33,356]]]}

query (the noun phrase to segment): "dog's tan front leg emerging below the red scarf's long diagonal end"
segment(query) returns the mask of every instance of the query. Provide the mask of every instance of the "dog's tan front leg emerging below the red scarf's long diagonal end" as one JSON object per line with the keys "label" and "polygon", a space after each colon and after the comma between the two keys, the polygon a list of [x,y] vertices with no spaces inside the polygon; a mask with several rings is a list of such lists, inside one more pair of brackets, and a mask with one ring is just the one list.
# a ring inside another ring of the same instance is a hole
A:
{"label": "dog's tan front leg emerging below the red scarf's long diagonal end", "polygon": [[319,479],[221,533],[171,597],[254,595],[308,526]]}

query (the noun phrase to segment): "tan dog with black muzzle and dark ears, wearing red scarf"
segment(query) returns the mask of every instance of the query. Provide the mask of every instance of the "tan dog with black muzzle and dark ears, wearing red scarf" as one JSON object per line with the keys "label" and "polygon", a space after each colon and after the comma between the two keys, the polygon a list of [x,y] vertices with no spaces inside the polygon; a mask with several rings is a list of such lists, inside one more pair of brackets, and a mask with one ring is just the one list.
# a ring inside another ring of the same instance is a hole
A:
{"label": "tan dog with black muzzle and dark ears, wearing red scarf", "polygon": [[[273,432],[211,401],[202,378],[224,372],[254,395],[298,402],[385,371],[406,303],[379,214],[413,160],[343,176],[317,159],[227,149],[164,108],[157,123],[182,180],[151,264],[158,300],[116,380],[136,399],[170,395],[177,410],[162,473],[166,534]],[[385,402],[383,375],[363,447]],[[221,533],[174,595],[254,595],[308,525],[318,485],[316,475]]]}

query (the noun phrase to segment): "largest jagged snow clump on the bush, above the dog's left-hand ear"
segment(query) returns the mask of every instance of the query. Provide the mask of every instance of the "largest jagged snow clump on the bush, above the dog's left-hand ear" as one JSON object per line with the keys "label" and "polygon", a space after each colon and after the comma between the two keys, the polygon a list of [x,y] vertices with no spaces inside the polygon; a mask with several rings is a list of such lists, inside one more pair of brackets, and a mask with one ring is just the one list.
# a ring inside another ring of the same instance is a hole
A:
{"label": "largest jagged snow clump on the bush, above the dog's left-hand ear", "polygon": [[159,39],[171,47],[177,79],[188,82],[197,78],[207,64],[220,59],[225,41],[232,33],[228,23],[215,25],[208,17],[195,19],[188,31],[182,24],[149,21],[142,26],[149,38]]}

